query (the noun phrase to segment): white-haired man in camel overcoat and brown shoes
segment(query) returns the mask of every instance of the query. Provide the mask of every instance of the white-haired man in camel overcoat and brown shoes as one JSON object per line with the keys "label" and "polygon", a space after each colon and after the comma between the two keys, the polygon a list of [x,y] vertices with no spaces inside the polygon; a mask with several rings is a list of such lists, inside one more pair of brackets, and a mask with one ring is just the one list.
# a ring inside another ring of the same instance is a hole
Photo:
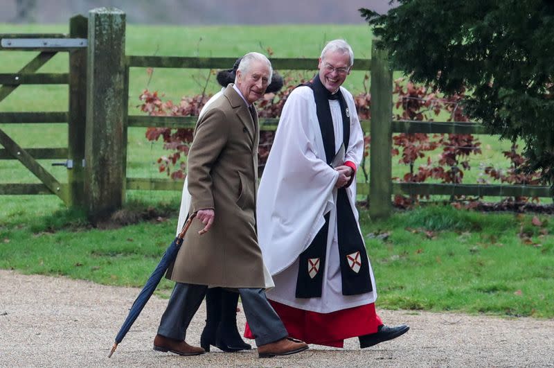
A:
{"label": "white-haired man in camel overcoat and brown shoes", "polygon": [[184,356],[205,352],[187,344],[185,335],[208,286],[238,289],[260,358],[307,349],[307,344],[287,338],[265,297],[273,281],[256,236],[259,128],[252,104],[263,96],[271,74],[264,55],[247,53],[235,84],[197,122],[188,156],[190,213],[197,216],[168,270],[176,283],[154,338],[157,351]]}

